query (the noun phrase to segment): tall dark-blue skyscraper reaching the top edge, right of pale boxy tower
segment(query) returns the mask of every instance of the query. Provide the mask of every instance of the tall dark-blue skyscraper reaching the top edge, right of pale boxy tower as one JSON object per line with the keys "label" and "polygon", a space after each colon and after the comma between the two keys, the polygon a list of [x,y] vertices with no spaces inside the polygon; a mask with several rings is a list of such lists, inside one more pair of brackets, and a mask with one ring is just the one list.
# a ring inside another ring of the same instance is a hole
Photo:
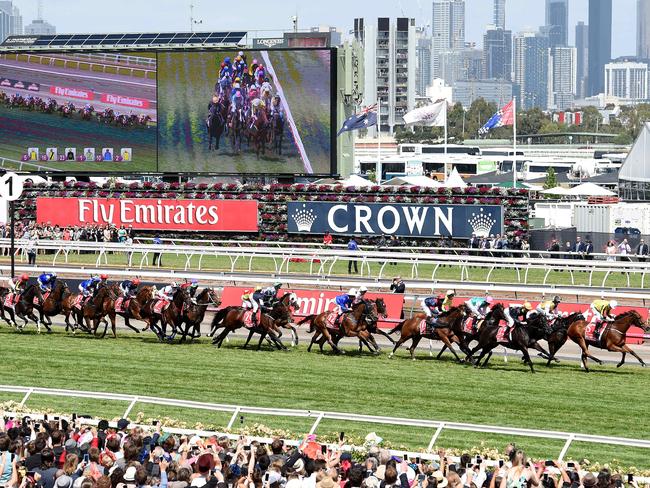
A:
{"label": "tall dark-blue skyscraper reaching the top edge, right of pale boxy tower", "polygon": [[604,92],[605,65],[612,59],[612,0],[589,0],[589,80],[587,96]]}

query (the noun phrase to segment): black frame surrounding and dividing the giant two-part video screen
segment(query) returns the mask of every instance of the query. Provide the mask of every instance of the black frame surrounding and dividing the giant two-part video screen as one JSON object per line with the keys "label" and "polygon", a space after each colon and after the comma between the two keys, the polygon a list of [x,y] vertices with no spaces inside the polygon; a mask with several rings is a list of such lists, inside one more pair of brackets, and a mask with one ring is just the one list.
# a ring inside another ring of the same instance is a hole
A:
{"label": "black frame surrounding and dividing the giant two-part video screen", "polygon": [[[88,49],[66,49],[66,50],[26,50],[26,49],[3,49],[0,50],[0,54],[8,55],[32,55],[32,56],[44,56],[47,55],[75,55],[75,54],[93,54],[93,53],[147,53],[156,55],[156,110],[158,110],[160,102],[159,94],[159,72],[158,72],[158,54],[164,53],[183,53],[183,52],[232,52],[233,50],[239,51],[259,51],[259,48],[249,47],[249,46],[205,46],[205,47],[192,47],[192,48],[156,48],[156,49],[137,49],[135,46],[132,46],[127,49],[119,48],[88,48]],[[309,177],[309,178],[324,178],[338,175],[338,153],[337,153],[337,141],[336,141],[336,132],[337,132],[337,110],[339,103],[339,96],[337,90],[337,71],[338,71],[338,56],[336,47],[308,47],[308,48],[289,48],[289,47],[278,47],[278,48],[269,48],[265,49],[266,51],[328,51],[330,56],[330,113],[329,113],[329,124],[330,124],[330,164],[329,171],[327,173],[277,173],[277,172],[258,172],[258,173],[237,173],[237,172],[220,172],[220,171],[159,171],[160,168],[160,134],[158,132],[158,127],[156,127],[156,170],[155,171],[135,171],[125,169],[124,171],[77,171],[77,170],[64,170],[64,171],[51,171],[49,169],[30,169],[28,167],[20,168],[19,170],[24,173],[30,173],[34,175],[41,176],[79,176],[79,177],[111,177],[111,176],[123,176],[123,177],[143,177],[143,176],[158,176],[158,177],[169,177],[169,176],[204,176],[204,177],[247,177],[247,178],[260,178],[260,177],[277,177],[277,178],[290,178],[290,177]],[[1,70],[0,70],[1,71]],[[159,119],[160,113],[158,113]],[[2,155],[0,154],[0,157]],[[120,163],[116,163],[120,164]]]}

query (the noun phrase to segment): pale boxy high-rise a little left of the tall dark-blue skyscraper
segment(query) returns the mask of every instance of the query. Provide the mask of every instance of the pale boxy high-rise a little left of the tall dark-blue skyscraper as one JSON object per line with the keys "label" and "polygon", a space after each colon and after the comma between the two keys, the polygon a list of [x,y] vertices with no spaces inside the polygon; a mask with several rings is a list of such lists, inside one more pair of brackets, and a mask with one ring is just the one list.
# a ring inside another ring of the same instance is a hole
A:
{"label": "pale boxy high-rise a little left of the tall dark-blue skyscraper", "polygon": [[573,106],[577,89],[577,56],[575,47],[549,49],[548,108],[566,110]]}

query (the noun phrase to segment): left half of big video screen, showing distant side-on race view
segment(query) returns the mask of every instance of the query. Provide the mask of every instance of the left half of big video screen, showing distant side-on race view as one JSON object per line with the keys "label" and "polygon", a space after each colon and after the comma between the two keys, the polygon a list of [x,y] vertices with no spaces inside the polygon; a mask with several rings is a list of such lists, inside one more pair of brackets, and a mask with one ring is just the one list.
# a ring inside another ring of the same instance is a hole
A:
{"label": "left half of big video screen, showing distant side-on race view", "polygon": [[33,171],[157,170],[155,53],[0,59],[0,158]]}

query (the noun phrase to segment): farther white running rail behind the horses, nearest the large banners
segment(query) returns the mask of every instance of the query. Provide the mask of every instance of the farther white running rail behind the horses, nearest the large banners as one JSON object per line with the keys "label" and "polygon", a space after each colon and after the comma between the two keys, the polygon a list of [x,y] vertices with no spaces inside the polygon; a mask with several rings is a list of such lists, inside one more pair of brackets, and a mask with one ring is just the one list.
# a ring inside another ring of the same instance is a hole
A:
{"label": "farther white running rail behind the horses, nearest the large banners", "polygon": [[[21,251],[22,259],[26,259],[25,249],[30,245],[27,240],[18,240],[16,246]],[[0,239],[0,247],[7,248],[8,239]],[[621,273],[626,278],[627,287],[631,286],[631,276],[640,277],[641,288],[645,288],[646,275],[650,271],[650,263],[639,262],[608,262],[583,259],[556,259],[537,257],[506,257],[506,256],[476,256],[455,254],[431,254],[424,252],[392,252],[392,251],[349,251],[347,249],[329,249],[321,247],[216,247],[216,246],[188,246],[188,245],[156,245],[132,244],[127,246],[121,243],[85,242],[85,241],[49,241],[43,240],[35,244],[38,250],[49,251],[54,266],[61,261],[67,263],[71,253],[92,252],[97,254],[95,266],[108,264],[110,253],[125,253],[125,265],[143,269],[149,265],[149,258],[154,254],[183,256],[184,271],[191,269],[201,270],[203,263],[208,258],[228,258],[230,272],[242,270],[240,263],[245,263],[243,268],[253,272],[259,260],[273,262],[270,273],[290,274],[308,273],[310,276],[329,276],[338,263],[358,262],[360,276],[382,279],[387,274],[394,274],[391,263],[406,265],[410,269],[410,279],[437,281],[442,271],[448,268],[457,268],[458,275],[454,278],[461,282],[472,282],[471,272],[481,269],[486,272],[483,281],[474,280],[474,283],[488,284],[495,272],[510,271],[516,283],[527,285],[530,283],[531,272],[543,274],[542,285],[546,285],[549,277],[557,272],[566,272],[571,280],[571,285],[576,284],[579,273],[587,273],[588,287],[603,288],[607,280],[615,273]],[[134,256],[139,255],[139,262],[134,262]],[[47,258],[47,254],[40,257]],[[193,263],[196,261],[196,265]],[[308,270],[297,263],[308,263]],[[428,267],[430,271],[424,268]],[[292,270],[292,268],[294,268]],[[597,283],[598,275],[602,280]]]}

